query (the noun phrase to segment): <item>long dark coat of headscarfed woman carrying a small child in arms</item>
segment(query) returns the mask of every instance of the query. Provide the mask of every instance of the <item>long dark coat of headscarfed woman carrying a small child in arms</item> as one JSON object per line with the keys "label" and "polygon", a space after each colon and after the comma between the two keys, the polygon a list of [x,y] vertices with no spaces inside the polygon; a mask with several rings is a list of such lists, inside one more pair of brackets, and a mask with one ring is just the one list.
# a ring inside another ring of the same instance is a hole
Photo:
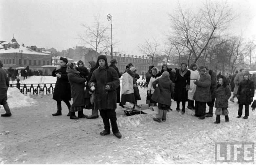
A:
{"label": "long dark coat of headscarfed woman carrying a small child in arms", "polygon": [[85,78],[81,78],[79,73],[67,73],[67,77],[71,87],[71,95],[73,96],[72,107],[84,106],[84,82]]}

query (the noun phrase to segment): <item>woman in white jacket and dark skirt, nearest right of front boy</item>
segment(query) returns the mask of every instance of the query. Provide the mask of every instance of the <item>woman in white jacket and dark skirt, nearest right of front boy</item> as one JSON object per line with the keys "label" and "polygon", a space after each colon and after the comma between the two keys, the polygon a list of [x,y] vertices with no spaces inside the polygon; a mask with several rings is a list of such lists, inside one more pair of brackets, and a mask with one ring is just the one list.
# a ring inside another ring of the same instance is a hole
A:
{"label": "woman in white jacket and dark skirt, nearest right of front boy", "polygon": [[122,78],[122,95],[121,95],[121,102],[119,106],[124,107],[126,102],[131,102],[135,104],[135,97],[134,97],[134,75],[136,74],[136,68],[126,68],[125,73],[123,74]]}

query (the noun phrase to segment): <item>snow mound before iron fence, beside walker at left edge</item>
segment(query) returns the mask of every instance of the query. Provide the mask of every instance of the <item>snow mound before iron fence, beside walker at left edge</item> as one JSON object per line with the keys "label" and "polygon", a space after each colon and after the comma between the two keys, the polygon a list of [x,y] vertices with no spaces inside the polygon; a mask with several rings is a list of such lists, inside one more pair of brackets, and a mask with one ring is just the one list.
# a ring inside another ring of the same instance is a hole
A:
{"label": "snow mound before iron fence, beside walker at left edge", "polygon": [[7,97],[10,109],[31,106],[36,102],[29,95],[22,94],[18,88],[8,88]]}

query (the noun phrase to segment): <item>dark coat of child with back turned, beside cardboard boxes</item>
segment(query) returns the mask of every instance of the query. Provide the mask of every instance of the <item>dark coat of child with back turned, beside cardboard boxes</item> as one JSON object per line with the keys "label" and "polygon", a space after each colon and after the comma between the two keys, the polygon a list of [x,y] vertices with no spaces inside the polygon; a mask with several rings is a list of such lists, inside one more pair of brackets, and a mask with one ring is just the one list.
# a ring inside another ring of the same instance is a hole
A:
{"label": "dark coat of child with back turned, beside cardboard boxes", "polygon": [[[156,84],[158,84],[157,87]],[[172,101],[170,98],[171,93],[173,92],[173,82],[170,80],[170,78],[161,77],[156,79],[152,83],[152,86],[155,91],[151,99],[155,102],[171,106]]]}

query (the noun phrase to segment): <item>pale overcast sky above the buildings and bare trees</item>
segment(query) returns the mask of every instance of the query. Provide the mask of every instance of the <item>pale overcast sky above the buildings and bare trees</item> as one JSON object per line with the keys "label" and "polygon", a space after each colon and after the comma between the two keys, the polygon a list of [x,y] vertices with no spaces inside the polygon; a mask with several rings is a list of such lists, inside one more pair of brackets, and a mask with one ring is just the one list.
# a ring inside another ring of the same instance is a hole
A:
{"label": "pale overcast sky above the buildings and bare trees", "polygon": [[[199,0],[180,0],[192,8],[202,4]],[[246,38],[256,37],[256,1],[229,0],[239,17],[230,31]],[[16,38],[25,46],[63,50],[81,46],[76,39],[83,31],[81,23],[93,22],[100,14],[102,21],[113,17],[113,40],[119,40],[118,49],[137,54],[137,45],[146,38],[163,40],[169,26],[168,13],[177,7],[177,0],[0,0],[0,40]],[[110,50],[110,49],[109,49]]]}

